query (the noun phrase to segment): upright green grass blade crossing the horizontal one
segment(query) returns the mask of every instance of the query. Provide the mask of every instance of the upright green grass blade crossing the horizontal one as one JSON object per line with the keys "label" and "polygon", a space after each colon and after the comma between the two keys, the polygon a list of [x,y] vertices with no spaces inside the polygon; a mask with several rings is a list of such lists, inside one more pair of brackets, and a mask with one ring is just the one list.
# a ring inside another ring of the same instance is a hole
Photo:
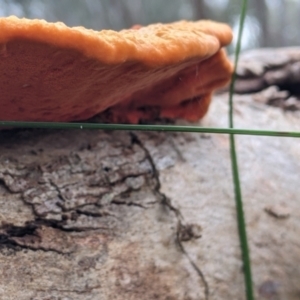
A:
{"label": "upright green grass blade crossing the horizontal one", "polygon": [[[232,76],[231,85],[230,85],[230,96],[229,96],[229,127],[230,128],[234,127],[233,92],[234,92],[234,84],[236,79],[236,68],[239,59],[239,54],[241,51],[241,40],[242,40],[243,27],[244,27],[244,22],[246,17],[247,4],[248,4],[247,0],[244,0],[242,4],[238,40],[237,40],[237,45],[235,50],[234,74]],[[248,239],[247,239],[247,230],[246,230],[246,222],[245,222],[244,209],[243,209],[242,190],[240,185],[239,168],[238,168],[238,160],[236,155],[234,134],[230,134],[230,156],[231,156],[231,167],[232,167],[234,194],[235,194],[235,203],[236,203],[236,212],[237,212],[238,233],[240,238],[242,260],[243,260],[243,267],[244,267],[245,293],[246,293],[247,300],[253,300],[254,294],[253,294],[253,284],[252,284],[251,261],[250,261],[250,253],[249,253],[249,246],[248,246]]]}

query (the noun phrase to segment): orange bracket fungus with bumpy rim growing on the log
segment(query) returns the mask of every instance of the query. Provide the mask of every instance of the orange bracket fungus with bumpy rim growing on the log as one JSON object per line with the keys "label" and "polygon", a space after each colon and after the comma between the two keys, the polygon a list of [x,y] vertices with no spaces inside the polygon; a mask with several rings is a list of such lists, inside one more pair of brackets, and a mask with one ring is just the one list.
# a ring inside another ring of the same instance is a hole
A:
{"label": "orange bracket fungus with bumpy rim growing on the log", "polygon": [[231,39],[212,21],[98,32],[0,18],[0,120],[196,121],[230,79]]}

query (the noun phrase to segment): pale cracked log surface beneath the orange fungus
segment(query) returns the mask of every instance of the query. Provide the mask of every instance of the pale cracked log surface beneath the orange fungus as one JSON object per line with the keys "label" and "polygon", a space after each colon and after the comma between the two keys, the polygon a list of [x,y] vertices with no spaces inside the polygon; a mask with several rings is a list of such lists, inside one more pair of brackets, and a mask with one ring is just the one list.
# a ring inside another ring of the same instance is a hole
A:
{"label": "pale cracked log surface beneath the orange fungus", "polygon": [[[227,127],[227,94],[204,126]],[[235,96],[239,128],[300,112]],[[244,299],[228,137],[0,132],[0,298]],[[237,137],[256,299],[299,299],[298,139]]]}

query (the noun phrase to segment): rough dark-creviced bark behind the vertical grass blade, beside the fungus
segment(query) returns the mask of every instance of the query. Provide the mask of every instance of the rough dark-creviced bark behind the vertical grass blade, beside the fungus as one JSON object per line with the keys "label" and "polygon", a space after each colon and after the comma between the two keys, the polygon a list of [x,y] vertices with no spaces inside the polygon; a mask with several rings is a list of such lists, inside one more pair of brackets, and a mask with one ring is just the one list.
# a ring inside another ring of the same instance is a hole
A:
{"label": "rough dark-creviced bark behind the vertical grass blade, beside the fungus", "polygon": [[266,48],[241,55],[235,92],[256,93],[254,100],[300,110],[300,48]]}

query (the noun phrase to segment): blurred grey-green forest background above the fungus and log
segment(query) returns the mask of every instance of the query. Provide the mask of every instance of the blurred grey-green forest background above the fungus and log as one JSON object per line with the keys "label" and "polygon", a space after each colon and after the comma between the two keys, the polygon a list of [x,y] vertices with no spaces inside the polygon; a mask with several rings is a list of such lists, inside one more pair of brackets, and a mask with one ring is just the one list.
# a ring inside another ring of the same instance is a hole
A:
{"label": "blurred grey-green forest background above the fungus and log", "polygon": [[[42,18],[96,30],[213,19],[237,32],[241,0],[0,0],[0,16]],[[300,0],[250,0],[243,49],[300,45]]]}

